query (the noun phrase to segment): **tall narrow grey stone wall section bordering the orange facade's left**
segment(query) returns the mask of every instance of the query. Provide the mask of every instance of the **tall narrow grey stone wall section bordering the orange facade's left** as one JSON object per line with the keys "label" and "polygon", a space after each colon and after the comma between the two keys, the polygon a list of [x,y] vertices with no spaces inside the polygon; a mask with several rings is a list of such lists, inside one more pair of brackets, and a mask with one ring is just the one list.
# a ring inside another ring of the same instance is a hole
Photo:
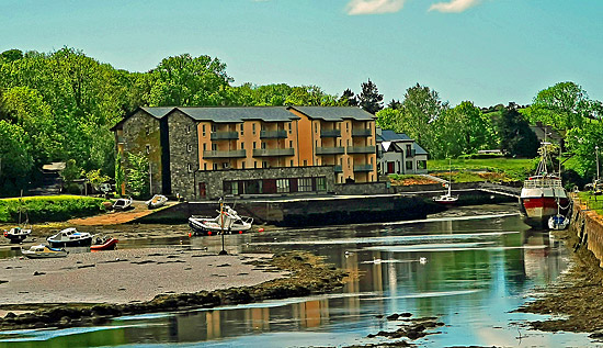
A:
{"label": "tall narrow grey stone wall section bordering the orange facade's left", "polygon": [[177,110],[168,115],[168,133],[172,194],[192,200],[195,194],[194,176],[198,170],[196,122]]}

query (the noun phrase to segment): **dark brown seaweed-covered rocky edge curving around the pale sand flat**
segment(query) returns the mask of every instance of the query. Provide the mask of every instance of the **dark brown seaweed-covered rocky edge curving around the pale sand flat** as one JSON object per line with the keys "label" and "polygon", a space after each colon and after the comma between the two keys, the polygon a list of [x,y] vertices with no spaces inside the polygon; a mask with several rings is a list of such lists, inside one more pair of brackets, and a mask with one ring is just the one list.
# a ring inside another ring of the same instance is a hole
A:
{"label": "dark brown seaweed-covered rocky edge curving around the pale sand flat", "polygon": [[[227,304],[243,304],[265,300],[328,293],[343,287],[348,273],[325,263],[308,252],[291,251],[274,255],[268,260],[254,260],[253,266],[289,276],[252,287],[238,287],[214,291],[156,295],[152,300],[122,304],[56,304],[33,313],[16,315],[12,312],[0,318],[0,330],[90,326],[106,323],[122,315],[185,311]],[[68,287],[68,284],[66,284]],[[31,306],[29,306],[31,307]],[[4,310],[20,310],[19,305]]]}

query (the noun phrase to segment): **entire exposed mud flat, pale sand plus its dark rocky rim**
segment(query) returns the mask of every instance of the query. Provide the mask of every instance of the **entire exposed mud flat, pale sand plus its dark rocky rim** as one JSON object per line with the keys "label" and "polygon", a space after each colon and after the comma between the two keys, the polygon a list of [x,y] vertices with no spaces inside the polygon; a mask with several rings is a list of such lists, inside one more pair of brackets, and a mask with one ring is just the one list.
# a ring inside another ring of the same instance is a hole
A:
{"label": "entire exposed mud flat, pale sand plus its dark rocky rim", "polygon": [[[0,330],[99,325],[121,315],[328,293],[346,278],[307,252],[216,256],[185,248],[8,259],[0,269],[1,308],[8,312]],[[35,311],[15,314],[27,310]]]}

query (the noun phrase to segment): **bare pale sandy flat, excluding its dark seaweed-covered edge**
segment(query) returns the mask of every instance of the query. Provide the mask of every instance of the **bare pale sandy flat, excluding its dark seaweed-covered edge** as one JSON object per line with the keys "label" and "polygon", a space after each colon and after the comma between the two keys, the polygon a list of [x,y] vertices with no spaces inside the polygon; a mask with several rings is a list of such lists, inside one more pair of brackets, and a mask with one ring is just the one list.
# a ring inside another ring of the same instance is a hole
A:
{"label": "bare pale sandy flat, excluding its dark seaweed-covered edge", "polygon": [[174,247],[0,259],[0,304],[144,302],[160,293],[254,285],[285,276],[247,263],[270,257]]}

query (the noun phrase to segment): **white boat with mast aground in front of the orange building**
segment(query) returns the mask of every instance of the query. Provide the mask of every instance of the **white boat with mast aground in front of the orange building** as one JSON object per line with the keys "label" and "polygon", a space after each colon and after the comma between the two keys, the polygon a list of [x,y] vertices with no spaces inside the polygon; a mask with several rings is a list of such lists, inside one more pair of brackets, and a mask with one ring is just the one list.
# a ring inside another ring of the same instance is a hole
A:
{"label": "white boat with mast aground in front of the orange building", "polygon": [[189,226],[195,235],[244,233],[252,224],[253,217],[239,216],[237,211],[221,202],[216,217],[189,217]]}

